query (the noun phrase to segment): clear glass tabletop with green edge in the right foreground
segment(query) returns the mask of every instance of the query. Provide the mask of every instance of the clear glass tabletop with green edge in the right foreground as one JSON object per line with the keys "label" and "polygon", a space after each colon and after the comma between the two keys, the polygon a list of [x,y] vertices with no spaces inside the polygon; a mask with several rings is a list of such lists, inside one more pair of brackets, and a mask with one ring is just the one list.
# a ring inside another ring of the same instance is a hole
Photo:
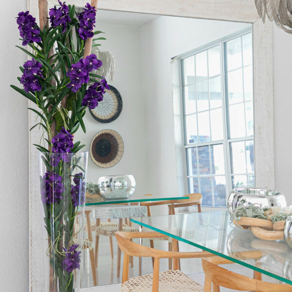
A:
{"label": "clear glass tabletop with green edge in the right foreground", "polygon": [[292,249],[233,227],[228,211],[131,219],[134,223],[292,284]]}

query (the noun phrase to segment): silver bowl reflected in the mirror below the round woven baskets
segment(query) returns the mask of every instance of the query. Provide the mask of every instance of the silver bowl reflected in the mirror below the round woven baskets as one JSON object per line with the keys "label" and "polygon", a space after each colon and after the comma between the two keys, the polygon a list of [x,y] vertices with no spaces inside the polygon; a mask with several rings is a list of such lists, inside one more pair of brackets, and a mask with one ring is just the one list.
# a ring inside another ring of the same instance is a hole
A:
{"label": "silver bowl reflected in the mirror below the round woven baskets", "polygon": [[125,199],[133,195],[136,182],[130,174],[103,176],[97,182],[99,194],[104,199]]}

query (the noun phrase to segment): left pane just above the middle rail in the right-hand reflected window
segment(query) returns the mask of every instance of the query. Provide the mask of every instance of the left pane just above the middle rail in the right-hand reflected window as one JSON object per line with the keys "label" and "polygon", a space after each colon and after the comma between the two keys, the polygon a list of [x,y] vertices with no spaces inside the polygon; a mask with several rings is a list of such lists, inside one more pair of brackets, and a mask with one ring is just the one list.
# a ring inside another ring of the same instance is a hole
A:
{"label": "left pane just above the middle rail in the right-hand reflected window", "polygon": [[245,137],[244,104],[229,107],[230,138]]}

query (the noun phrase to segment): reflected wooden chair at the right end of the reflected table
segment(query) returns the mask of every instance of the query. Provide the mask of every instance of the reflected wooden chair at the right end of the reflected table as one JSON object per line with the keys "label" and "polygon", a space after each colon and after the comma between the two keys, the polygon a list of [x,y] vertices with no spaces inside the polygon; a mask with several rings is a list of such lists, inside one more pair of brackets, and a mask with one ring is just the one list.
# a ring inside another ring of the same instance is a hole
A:
{"label": "reflected wooden chair at the right end of the reflected table", "polygon": [[[201,213],[201,203],[202,203],[202,195],[200,193],[193,193],[188,194],[183,197],[189,197],[189,199],[185,200],[167,200],[167,201],[150,201],[150,202],[141,202],[141,206],[147,207],[147,216],[151,216],[151,206],[158,206],[158,205],[168,205],[168,215],[175,215],[175,209],[181,207],[189,207],[189,206],[197,206],[198,212]],[[147,230],[150,231],[150,230]],[[168,241],[168,250],[172,251],[172,238],[171,237],[159,237],[150,238],[150,247],[154,248],[154,241],[155,240],[164,240]],[[152,264],[154,264],[154,258],[152,258]],[[181,266],[180,262],[179,265]],[[172,261],[171,259],[168,260],[168,268],[172,269]]]}

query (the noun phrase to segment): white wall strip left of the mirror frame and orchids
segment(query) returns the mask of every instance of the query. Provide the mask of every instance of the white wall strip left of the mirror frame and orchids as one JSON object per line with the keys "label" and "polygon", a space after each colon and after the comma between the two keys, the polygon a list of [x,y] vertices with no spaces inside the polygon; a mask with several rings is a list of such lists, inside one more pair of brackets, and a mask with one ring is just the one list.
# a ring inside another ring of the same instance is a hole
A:
{"label": "white wall strip left of the mirror frame and orchids", "polygon": [[15,45],[16,17],[26,0],[0,9],[0,291],[28,291],[28,102],[9,87],[18,84],[26,55]]}

